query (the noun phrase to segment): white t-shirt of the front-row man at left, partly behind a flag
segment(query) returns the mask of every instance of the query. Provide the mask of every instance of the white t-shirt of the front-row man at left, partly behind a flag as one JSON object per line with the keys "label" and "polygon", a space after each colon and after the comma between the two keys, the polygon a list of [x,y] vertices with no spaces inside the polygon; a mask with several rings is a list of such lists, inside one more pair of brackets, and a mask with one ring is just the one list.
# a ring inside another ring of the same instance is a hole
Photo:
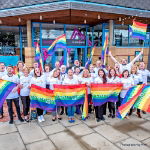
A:
{"label": "white t-shirt of the front-row man at left, partly behind a flag", "polygon": [[[13,75],[12,77],[9,77],[8,75],[5,75],[5,76],[2,77],[2,79],[19,84],[19,78],[18,78],[17,75]],[[14,87],[13,90],[15,90],[15,89],[16,89],[16,87]],[[14,98],[19,97],[18,91],[13,92],[13,90],[9,93],[9,95],[7,96],[6,99],[14,99]]]}

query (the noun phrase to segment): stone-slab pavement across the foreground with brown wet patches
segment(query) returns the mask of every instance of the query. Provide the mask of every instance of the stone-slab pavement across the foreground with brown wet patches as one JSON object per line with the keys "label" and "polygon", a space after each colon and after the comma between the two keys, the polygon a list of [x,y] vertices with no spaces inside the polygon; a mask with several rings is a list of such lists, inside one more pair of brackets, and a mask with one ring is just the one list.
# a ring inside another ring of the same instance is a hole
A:
{"label": "stone-slab pavement across the foreground with brown wet patches", "polygon": [[120,120],[105,117],[96,122],[93,114],[86,121],[76,116],[75,123],[62,120],[13,125],[0,122],[0,150],[150,150],[150,114]]}

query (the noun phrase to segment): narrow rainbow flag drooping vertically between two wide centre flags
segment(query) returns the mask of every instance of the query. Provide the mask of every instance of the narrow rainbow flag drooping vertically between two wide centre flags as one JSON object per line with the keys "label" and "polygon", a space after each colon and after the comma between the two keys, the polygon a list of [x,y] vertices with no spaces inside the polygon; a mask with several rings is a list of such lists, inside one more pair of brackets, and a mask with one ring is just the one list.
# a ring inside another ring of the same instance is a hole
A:
{"label": "narrow rainbow flag drooping vertically between two wide centre flags", "polygon": [[88,106],[89,106],[88,105],[88,92],[86,88],[85,100],[83,104],[82,120],[86,120],[86,118],[88,117]]}

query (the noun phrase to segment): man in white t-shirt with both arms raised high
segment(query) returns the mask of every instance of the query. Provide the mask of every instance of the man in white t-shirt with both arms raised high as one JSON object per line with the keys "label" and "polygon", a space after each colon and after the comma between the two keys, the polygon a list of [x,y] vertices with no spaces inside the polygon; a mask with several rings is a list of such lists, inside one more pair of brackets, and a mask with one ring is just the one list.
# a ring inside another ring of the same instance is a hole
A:
{"label": "man in white t-shirt with both arms raised high", "polygon": [[140,58],[140,56],[143,54],[143,50],[137,55],[130,63],[127,63],[126,59],[122,59],[121,63],[119,63],[115,57],[112,56],[111,51],[109,51],[110,58],[114,61],[114,63],[119,65],[120,73],[122,73],[124,70],[128,70],[131,72],[132,65]]}

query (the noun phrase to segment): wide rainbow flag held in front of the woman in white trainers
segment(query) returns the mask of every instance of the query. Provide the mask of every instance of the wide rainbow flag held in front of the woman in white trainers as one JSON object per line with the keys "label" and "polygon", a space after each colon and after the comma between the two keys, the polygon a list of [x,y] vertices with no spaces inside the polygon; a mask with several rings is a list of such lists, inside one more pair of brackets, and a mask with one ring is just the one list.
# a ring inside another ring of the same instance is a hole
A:
{"label": "wide rainbow flag held in front of the woman in white trainers", "polygon": [[54,92],[52,90],[31,85],[30,91],[30,107],[40,108],[47,111],[56,110]]}

